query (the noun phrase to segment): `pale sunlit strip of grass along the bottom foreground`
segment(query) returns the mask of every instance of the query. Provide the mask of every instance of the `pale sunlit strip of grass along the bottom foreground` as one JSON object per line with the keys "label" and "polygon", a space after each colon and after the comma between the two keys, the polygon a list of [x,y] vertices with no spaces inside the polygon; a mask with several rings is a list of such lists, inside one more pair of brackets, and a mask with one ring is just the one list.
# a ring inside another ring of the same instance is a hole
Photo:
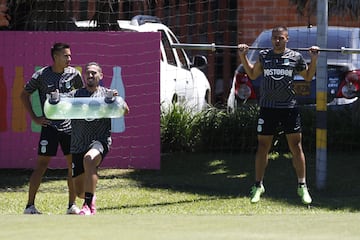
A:
{"label": "pale sunlit strip of grass along the bottom foreground", "polygon": [[1,239],[359,239],[358,214],[1,217]]}

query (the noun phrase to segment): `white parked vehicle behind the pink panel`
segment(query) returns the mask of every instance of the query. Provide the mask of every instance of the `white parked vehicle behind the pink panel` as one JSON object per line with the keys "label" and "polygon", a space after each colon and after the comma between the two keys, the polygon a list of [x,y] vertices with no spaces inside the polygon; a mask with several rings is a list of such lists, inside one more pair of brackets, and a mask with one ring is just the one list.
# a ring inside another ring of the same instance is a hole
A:
{"label": "white parked vehicle behind the pink panel", "polygon": [[[207,64],[204,56],[194,56],[190,61],[184,49],[171,45],[179,43],[175,34],[155,16],[138,15],[131,20],[118,20],[121,31],[161,32],[160,44],[160,103],[163,109],[174,103],[193,111],[205,109],[210,104],[210,83],[201,71]],[[78,21],[81,28],[96,27],[94,21]]]}

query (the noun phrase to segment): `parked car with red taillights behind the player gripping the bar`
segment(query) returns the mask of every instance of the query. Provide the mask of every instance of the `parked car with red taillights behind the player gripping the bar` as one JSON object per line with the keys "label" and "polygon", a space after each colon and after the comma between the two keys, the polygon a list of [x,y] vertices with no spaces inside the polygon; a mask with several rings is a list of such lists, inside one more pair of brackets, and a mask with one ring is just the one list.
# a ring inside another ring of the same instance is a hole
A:
{"label": "parked car with red taillights behind the player gripping the bar", "polygon": [[[316,27],[289,27],[288,48],[309,48],[316,44]],[[271,48],[272,29],[263,31],[251,45],[252,47]],[[360,48],[360,28],[328,27],[328,48],[341,49]],[[308,52],[301,52],[307,62],[310,62]],[[320,52],[327,55],[328,64],[328,105],[350,104],[357,100],[360,90],[360,54],[342,54],[341,52]],[[250,62],[256,62],[259,50],[250,50]],[[262,76],[250,80],[240,64],[235,70],[233,83],[227,101],[230,110],[236,109],[244,102],[257,103]],[[305,82],[297,75],[294,88],[299,105],[314,105],[316,103],[316,76],[311,82]]]}

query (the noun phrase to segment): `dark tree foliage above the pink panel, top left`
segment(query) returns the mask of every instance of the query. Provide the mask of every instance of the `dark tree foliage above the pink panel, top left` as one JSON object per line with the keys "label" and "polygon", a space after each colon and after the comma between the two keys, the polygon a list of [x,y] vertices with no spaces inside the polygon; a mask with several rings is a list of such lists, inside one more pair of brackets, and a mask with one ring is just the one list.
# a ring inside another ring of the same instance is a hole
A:
{"label": "dark tree foliage above the pink panel, top left", "polygon": [[[7,8],[0,8],[0,21],[6,22],[9,30],[27,31],[72,31],[76,30],[73,1],[53,0],[8,0]],[[118,30],[116,13],[117,0],[96,1],[95,15],[98,27],[96,30]],[[0,22],[1,23],[1,22]],[[4,28],[5,25],[2,27]]]}

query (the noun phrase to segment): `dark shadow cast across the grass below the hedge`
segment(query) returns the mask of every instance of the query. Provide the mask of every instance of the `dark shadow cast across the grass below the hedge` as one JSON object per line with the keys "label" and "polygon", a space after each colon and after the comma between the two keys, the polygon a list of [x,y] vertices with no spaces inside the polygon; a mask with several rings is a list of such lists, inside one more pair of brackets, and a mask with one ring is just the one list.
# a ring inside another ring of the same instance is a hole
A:
{"label": "dark shadow cast across the grass below the hedge", "polygon": [[[314,154],[313,154],[314,155]],[[328,157],[327,187],[316,189],[315,156],[307,156],[307,182],[313,197],[313,207],[360,211],[358,153],[332,153]],[[27,191],[31,170],[1,169],[0,191]],[[254,180],[254,154],[173,153],[161,159],[161,170],[114,171],[101,178],[122,178],[137,186],[170,189],[204,195],[204,199],[248,197]],[[43,182],[65,180],[66,170],[48,170]],[[269,161],[265,176],[265,198],[301,205],[296,195],[297,180],[291,160],[280,156]],[[179,202],[161,203],[162,205]],[[153,206],[153,205],[151,205]],[[151,207],[149,205],[149,207]],[[126,205],[121,208],[141,206]]]}

